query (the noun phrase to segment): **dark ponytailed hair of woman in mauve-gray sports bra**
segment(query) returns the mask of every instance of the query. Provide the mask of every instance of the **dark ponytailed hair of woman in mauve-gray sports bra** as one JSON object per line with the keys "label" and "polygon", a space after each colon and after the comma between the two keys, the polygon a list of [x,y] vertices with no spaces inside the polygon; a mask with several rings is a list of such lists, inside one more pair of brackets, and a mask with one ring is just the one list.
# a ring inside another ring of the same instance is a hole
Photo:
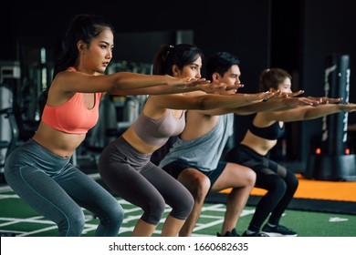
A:
{"label": "dark ponytailed hair of woman in mauve-gray sports bra", "polygon": [[194,45],[179,44],[175,46],[164,45],[154,57],[153,75],[173,75],[172,66],[180,70],[183,66],[193,63],[198,57],[204,57],[203,52]]}

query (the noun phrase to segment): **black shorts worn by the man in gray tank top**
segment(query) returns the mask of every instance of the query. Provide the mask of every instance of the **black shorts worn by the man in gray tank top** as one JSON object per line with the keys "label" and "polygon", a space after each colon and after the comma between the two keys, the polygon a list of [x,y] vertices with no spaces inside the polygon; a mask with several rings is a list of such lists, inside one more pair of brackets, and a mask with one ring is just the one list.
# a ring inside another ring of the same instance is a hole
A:
{"label": "black shorts worn by the man in gray tank top", "polygon": [[[175,160],[162,168],[167,173],[172,175],[174,179],[178,179],[178,176],[181,174],[183,169],[194,168],[194,169],[198,170],[199,172],[203,173],[205,176],[207,176],[208,179],[210,179],[210,189],[212,189],[212,187],[215,184],[216,179],[219,178],[221,173],[224,171],[225,167],[226,167],[226,162],[219,161],[219,163],[217,164],[217,167],[214,170],[202,171],[199,168],[189,165],[188,162],[186,162],[182,159],[178,159],[178,160]],[[210,189],[209,189],[209,192],[210,192]]]}

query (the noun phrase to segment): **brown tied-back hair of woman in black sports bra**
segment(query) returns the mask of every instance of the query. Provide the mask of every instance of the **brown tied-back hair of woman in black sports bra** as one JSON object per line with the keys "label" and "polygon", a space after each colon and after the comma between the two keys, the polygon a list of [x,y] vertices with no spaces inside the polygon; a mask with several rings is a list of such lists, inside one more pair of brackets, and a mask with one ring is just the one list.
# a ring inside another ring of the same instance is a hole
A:
{"label": "brown tied-back hair of woman in black sports bra", "polygon": [[262,71],[259,76],[259,91],[267,91],[269,88],[278,89],[279,84],[286,78],[292,79],[286,70],[280,68],[270,68]]}

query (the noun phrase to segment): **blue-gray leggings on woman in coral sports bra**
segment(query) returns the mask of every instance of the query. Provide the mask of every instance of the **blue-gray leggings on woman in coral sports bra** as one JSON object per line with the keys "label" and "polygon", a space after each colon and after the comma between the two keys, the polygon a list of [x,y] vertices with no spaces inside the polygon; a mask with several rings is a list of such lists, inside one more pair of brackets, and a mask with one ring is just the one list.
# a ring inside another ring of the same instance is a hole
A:
{"label": "blue-gray leggings on woman in coral sports bra", "polygon": [[89,209],[100,220],[96,236],[117,236],[123,220],[118,201],[93,179],[29,139],[6,158],[5,179],[33,209],[58,225],[58,236],[80,236]]}

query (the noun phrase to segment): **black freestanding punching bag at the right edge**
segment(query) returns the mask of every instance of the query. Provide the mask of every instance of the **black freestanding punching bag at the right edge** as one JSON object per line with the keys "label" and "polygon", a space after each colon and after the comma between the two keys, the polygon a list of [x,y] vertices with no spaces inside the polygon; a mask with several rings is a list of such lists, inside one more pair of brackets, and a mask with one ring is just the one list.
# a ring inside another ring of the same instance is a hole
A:
{"label": "black freestanding punching bag at the right edge", "polygon": [[[350,56],[328,56],[325,97],[343,97],[343,102],[348,103],[350,73]],[[307,179],[356,180],[356,155],[348,146],[348,116],[346,112],[323,117],[321,140],[309,155]]]}

